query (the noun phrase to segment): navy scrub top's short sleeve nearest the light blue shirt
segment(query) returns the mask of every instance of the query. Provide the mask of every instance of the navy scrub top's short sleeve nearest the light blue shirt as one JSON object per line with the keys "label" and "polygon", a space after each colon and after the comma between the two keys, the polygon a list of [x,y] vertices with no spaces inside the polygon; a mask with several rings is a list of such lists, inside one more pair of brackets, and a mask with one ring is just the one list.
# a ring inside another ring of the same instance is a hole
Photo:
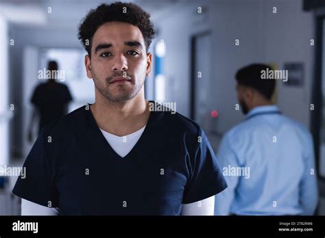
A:
{"label": "navy scrub top's short sleeve nearest the light blue shirt", "polygon": [[184,189],[183,204],[209,198],[227,187],[208,138],[200,129],[195,154],[190,155],[190,178]]}

